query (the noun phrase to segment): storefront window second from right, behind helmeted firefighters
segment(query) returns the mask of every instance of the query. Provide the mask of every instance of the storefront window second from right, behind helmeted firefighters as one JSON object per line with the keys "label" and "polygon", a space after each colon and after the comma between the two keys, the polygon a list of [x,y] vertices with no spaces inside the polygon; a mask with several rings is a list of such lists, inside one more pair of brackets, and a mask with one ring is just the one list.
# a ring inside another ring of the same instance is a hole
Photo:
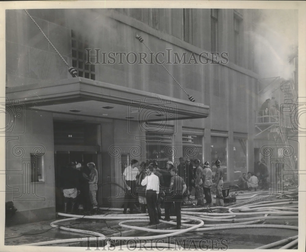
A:
{"label": "storefront window second from right, behind helmeted firefighters", "polygon": [[223,169],[223,181],[227,181],[227,137],[211,136],[211,171],[213,176],[215,176],[217,170],[215,165],[217,159],[221,161],[220,167]]}

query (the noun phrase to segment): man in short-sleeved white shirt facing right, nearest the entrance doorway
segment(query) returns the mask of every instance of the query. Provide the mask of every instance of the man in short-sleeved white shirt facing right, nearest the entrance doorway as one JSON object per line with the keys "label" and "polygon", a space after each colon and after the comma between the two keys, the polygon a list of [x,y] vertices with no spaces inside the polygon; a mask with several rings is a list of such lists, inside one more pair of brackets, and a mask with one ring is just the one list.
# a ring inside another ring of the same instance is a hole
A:
{"label": "man in short-sleeved white shirt facing right, nearest the entrance doorway", "polygon": [[123,213],[126,213],[128,206],[130,208],[130,213],[134,213],[134,205],[136,203],[136,177],[140,173],[137,166],[138,161],[133,159],[132,163],[124,169],[122,174],[123,185],[126,188]]}

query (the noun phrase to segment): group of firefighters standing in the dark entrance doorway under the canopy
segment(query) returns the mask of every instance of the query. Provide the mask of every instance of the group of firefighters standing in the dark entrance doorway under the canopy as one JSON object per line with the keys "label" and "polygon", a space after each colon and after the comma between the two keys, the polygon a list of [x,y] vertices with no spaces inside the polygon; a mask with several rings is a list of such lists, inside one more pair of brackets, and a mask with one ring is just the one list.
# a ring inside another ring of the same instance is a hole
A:
{"label": "group of firefighters standing in the dark entrance doorway under the canopy", "polygon": [[82,165],[72,161],[61,170],[61,188],[64,194],[64,213],[98,212],[96,193],[98,190],[98,171],[95,163]]}

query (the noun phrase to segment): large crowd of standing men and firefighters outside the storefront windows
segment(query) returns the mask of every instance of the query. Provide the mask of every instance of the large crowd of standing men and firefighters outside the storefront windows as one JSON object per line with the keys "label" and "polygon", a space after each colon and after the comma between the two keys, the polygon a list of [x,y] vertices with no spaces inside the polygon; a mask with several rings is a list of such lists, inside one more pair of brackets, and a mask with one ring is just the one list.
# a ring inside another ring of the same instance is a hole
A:
{"label": "large crowd of standing men and firefighters outside the storefront windows", "polygon": [[[134,205],[137,200],[141,204],[143,213],[150,217],[149,224],[159,224],[162,219],[161,206],[164,205],[164,220],[170,221],[170,215],[176,215],[177,229],[181,228],[181,203],[184,198],[191,198],[191,191],[195,188],[197,206],[207,206],[212,202],[211,187],[213,176],[209,163],[201,165],[199,159],[180,160],[180,164],[174,167],[172,161],[167,161],[165,169],[159,169],[158,162],[151,160],[147,163],[138,163],[133,159],[122,174],[125,188],[123,213],[134,213]],[[217,171],[215,174],[216,205],[223,206],[223,169],[220,160],[215,161]],[[140,166],[140,169],[138,169]],[[206,203],[203,204],[203,198]]]}

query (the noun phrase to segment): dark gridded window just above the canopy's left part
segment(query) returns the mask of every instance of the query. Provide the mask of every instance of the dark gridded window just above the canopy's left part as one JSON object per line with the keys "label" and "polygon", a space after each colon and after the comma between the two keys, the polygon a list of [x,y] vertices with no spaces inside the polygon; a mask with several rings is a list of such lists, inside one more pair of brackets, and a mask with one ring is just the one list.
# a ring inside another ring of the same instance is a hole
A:
{"label": "dark gridded window just above the canopy's left part", "polygon": [[71,30],[72,66],[78,72],[78,76],[95,80],[95,65],[85,64],[87,61],[86,48],[88,41],[81,34]]}

